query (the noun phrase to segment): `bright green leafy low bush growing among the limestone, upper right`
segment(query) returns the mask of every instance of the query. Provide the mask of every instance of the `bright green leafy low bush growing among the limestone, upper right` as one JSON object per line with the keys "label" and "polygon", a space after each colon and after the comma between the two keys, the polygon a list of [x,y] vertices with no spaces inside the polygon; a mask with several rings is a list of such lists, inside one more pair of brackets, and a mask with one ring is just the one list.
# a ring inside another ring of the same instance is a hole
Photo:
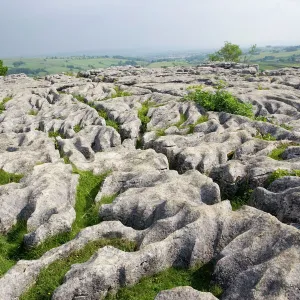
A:
{"label": "bright green leafy low bush growing among the limestone, upper right", "polygon": [[232,94],[221,88],[218,88],[214,93],[197,88],[194,92],[189,93],[185,99],[196,102],[206,110],[253,117],[250,103],[239,102]]}

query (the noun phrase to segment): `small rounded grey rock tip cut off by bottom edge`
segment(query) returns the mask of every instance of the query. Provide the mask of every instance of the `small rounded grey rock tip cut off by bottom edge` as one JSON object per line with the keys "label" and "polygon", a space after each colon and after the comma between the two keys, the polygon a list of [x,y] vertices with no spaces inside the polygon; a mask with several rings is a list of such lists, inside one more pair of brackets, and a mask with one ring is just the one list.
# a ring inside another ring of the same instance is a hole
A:
{"label": "small rounded grey rock tip cut off by bottom edge", "polygon": [[202,293],[191,287],[178,287],[167,291],[160,292],[155,300],[216,300],[214,295],[211,293]]}

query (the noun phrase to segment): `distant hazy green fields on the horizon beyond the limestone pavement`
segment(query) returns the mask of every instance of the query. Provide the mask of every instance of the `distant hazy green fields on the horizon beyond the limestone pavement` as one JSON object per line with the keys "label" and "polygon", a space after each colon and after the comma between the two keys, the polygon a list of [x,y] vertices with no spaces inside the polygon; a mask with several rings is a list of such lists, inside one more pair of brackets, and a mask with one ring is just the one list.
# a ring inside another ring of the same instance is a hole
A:
{"label": "distant hazy green fields on the horizon beyond the limestone pavement", "polygon": [[[272,70],[285,67],[300,67],[300,46],[258,48],[250,58],[250,63],[259,64],[260,70]],[[149,57],[123,56],[70,56],[70,57],[35,57],[7,58],[4,65],[9,67],[8,74],[25,73],[29,76],[45,76],[62,72],[78,73],[89,69],[108,68],[111,66],[140,65],[148,68],[177,67],[197,65],[206,60],[205,54],[174,59],[167,56],[158,59]],[[241,57],[243,61],[243,57]]]}

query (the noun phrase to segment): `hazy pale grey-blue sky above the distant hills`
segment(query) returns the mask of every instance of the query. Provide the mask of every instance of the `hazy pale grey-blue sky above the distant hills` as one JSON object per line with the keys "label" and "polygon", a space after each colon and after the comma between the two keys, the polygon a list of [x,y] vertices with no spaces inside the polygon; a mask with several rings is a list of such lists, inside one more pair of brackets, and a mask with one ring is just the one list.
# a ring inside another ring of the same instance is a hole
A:
{"label": "hazy pale grey-blue sky above the distant hills", "polygon": [[0,57],[300,44],[300,0],[0,1]]}

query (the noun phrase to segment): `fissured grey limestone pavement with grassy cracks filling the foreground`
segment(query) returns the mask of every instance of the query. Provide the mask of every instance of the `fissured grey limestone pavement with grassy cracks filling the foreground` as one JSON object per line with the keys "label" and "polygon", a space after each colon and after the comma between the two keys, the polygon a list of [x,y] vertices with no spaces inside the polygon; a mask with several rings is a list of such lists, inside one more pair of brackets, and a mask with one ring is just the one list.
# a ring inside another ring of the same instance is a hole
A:
{"label": "fissured grey limestone pavement with grassy cracks filling the foreground", "polygon": [[0,299],[300,299],[300,69],[18,74],[0,99]]}

